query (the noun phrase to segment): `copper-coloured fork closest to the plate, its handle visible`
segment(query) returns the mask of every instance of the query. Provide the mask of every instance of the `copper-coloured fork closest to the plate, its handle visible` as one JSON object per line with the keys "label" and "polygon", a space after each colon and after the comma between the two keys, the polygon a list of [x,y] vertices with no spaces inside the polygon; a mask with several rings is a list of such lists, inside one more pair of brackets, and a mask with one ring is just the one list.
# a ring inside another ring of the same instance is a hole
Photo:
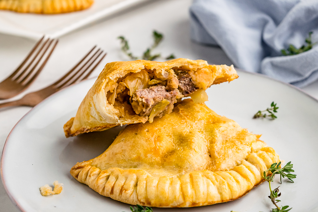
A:
{"label": "copper-coloured fork closest to the plate, its handle visible", "polygon": [[[93,52],[93,50],[95,48],[96,48],[96,46],[94,46],[93,49],[90,50],[86,54],[86,56],[83,59],[81,59],[79,61],[79,63],[76,64],[69,72],[67,72],[61,79],[59,79],[58,81],[56,81],[52,85],[49,85],[49,86],[47,86],[39,91],[28,93],[24,97],[22,97],[22,99],[2,103],[2,104],[0,104],[0,108],[1,107],[9,107],[9,106],[31,106],[31,107],[33,107],[33,106],[37,105],[38,103],[40,103],[46,97],[61,90],[62,88],[65,88],[66,86],[72,85],[76,82],[79,82],[79,81],[86,79],[94,71],[94,69],[102,61],[102,59],[106,56],[106,53],[104,55],[102,55],[103,51],[100,49]],[[86,60],[86,58],[88,58],[89,55],[92,55],[92,56]],[[95,63],[95,65],[93,65],[94,62],[98,58],[100,58],[100,59]],[[91,68],[88,71],[88,69],[92,65],[93,65],[93,68]],[[86,73],[86,75],[83,77],[83,75],[85,73]]]}

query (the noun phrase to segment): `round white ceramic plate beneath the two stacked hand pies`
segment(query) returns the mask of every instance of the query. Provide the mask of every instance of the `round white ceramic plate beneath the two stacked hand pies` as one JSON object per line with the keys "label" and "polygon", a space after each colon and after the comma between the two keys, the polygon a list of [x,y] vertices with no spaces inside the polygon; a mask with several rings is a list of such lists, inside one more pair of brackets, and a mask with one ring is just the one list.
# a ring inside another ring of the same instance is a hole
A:
{"label": "round white ceramic plate beneath the two stacked hand pies", "polygon": [[[86,133],[66,139],[64,123],[75,115],[81,100],[95,79],[58,92],[22,118],[11,131],[2,155],[2,180],[11,200],[27,212],[103,211],[129,212],[129,205],[99,195],[76,181],[69,170],[76,162],[92,159],[106,150],[122,127]],[[212,85],[207,90],[207,105],[220,115],[237,121],[273,147],[280,158],[292,161],[295,183],[283,180],[280,200],[293,212],[318,211],[318,102],[297,88],[264,76],[239,72],[230,84]],[[254,113],[277,102],[276,120],[255,120]],[[61,194],[41,196],[39,187],[58,180],[64,183]],[[275,179],[273,187],[277,187]],[[272,188],[273,188],[272,187]],[[227,203],[162,211],[270,211],[268,183]],[[280,204],[279,204],[280,205]]]}

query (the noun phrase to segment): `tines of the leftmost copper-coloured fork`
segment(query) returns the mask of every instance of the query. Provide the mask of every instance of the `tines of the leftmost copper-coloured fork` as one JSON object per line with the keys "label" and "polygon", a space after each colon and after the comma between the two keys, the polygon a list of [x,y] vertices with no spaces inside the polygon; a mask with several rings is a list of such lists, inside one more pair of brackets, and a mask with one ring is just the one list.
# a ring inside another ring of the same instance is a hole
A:
{"label": "tines of the leftmost copper-coloured fork", "polygon": [[10,75],[10,78],[21,85],[31,83],[42,71],[58,41],[50,38],[44,39],[43,36],[17,70]]}

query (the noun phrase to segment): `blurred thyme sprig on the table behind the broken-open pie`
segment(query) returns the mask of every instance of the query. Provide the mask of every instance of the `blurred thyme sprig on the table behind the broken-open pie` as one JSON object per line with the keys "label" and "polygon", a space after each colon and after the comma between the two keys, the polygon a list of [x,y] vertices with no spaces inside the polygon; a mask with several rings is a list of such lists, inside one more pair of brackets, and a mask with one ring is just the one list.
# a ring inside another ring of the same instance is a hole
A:
{"label": "blurred thyme sprig on the table behind the broken-open pie", "polygon": [[[143,52],[141,57],[143,60],[155,60],[156,58],[161,57],[160,53],[152,54],[152,51],[162,42],[163,34],[154,30],[152,32],[152,36],[154,38],[154,43],[151,45],[151,47],[147,48],[146,51]],[[132,60],[138,59],[138,57],[134,56],[133,53],[129,51],[130,47],[128,44],[128,40],[124,36],[119,36],[118,39],[121,40],[121,51],[124,52]],[[174,54],[171,54],[165,59],[169,60],[174,58]]]}

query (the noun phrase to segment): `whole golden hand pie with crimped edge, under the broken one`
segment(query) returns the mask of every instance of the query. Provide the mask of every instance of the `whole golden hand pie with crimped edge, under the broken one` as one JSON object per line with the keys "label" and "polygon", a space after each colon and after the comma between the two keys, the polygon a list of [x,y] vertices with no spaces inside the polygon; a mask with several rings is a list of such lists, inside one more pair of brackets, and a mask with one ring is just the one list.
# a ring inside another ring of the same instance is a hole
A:
{"label": "whole golden hand pie with crimped edge, under the broken one", "polygon": [[192,207],[242,197],[279,161],[258,135],[185,99],[153,123],[126,126],[103,154],[70,173],[121,202]]}

